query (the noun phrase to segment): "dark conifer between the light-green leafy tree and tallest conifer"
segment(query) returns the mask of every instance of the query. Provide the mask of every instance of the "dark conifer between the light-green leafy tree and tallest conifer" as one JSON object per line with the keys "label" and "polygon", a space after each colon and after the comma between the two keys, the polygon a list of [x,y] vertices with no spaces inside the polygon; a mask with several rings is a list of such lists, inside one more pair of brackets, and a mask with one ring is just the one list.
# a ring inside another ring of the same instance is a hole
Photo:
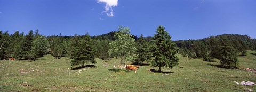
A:
{"label": "dark conifer between the light-green leafy tree and tallest conifer", "polygon": [[135,62],[142,63],[144,61],[149,62],[151,60],[151,56],[149,53],[149,47],[146,40],[143,38],[142,34],[137,42],[137,54],[138,58],[135,59]]}

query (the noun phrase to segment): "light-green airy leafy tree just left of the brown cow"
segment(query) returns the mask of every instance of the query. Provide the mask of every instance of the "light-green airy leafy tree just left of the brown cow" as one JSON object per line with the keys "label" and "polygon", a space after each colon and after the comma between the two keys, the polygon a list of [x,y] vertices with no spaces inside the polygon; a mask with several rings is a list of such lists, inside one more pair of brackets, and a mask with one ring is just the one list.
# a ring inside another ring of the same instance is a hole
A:
{"label": "light-green airy leafy tree just left of the brown cow", "polygon": [[130,31],[129,27],[119,26],[119,31],[114,36],[116,40],[110,43],[111,49],[109,50],[109,54],[110,56],[121,57],[121,65],[123,64],[123,59],[132,61],[137,57],[134,46],[135,39],[132,38]]}

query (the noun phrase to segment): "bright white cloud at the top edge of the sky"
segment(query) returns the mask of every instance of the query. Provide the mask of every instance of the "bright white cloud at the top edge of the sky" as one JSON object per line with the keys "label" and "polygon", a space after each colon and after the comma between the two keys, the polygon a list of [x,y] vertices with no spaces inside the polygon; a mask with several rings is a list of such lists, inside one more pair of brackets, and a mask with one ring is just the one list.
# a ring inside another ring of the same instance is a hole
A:
{"label": "bright white cloud at the top edge of the sky", "polygon": [[97,0],[98,3],[106,3],[105,11],[107,16],[114,16],[113,8],[117,6],[118,0]]}

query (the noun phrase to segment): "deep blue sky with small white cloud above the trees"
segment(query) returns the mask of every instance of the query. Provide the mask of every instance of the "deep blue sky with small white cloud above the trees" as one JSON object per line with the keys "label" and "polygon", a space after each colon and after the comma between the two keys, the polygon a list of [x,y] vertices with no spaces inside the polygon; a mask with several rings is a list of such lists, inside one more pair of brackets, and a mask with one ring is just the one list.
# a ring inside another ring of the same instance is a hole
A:
{"label": "deep blue sky with small white cloud above the trees", "polygon": [[247,34],[256,38],[255,0],[0,0],[0,30],[42,35],[101,35],[130,27],[154,36],[159,25],[172,40]]}

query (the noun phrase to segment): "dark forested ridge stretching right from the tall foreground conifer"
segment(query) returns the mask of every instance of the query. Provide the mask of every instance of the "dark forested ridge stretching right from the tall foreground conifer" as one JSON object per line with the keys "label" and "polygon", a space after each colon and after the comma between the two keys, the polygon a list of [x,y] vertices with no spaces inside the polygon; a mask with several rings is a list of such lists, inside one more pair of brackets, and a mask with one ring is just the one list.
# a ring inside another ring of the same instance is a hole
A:
{"label": "dark forested ridge stretching right from the tall foreground conifer", "polygon": [[[227,40],[227,43],[223,43],[223,40]],[[241,52],[242,56],[246,55],[246,50],[256,50],[256,39],[251,39],[247,35],[239,34],[223,34],[200,40],[179,40],[175,42],[180,48],[179,53],[182,54],[183,57],[188,56],[190,59],[220,59],[222,56],[221,48],[226,44],[229,44],[235,52]]]}

